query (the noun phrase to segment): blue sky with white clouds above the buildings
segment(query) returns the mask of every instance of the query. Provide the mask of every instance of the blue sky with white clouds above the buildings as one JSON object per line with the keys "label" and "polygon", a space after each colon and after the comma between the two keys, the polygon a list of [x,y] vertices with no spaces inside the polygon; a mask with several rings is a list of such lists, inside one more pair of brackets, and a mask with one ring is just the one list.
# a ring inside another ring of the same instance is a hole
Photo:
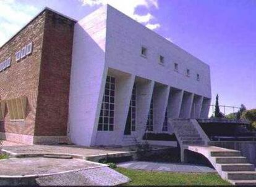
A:
{"label": "blue sky with white clouds above the buildings", "polygon": [[256,108],[255,0],[1,0],[0,46],[45,6],[79,20],[106,3],[208,63],[212,103]]}

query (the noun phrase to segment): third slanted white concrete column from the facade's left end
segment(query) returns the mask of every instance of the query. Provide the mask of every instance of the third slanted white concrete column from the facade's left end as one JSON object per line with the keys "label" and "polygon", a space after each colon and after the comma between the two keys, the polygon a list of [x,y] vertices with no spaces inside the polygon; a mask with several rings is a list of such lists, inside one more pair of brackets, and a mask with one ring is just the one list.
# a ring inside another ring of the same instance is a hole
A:
{"label": "third slanted white concrete column from the facade's left end", "polygon": [[169,90],[169,86],[156,86],[155,84],[155,88],[153,91],[154,132],[162,132],[164,114],[168,103]]}

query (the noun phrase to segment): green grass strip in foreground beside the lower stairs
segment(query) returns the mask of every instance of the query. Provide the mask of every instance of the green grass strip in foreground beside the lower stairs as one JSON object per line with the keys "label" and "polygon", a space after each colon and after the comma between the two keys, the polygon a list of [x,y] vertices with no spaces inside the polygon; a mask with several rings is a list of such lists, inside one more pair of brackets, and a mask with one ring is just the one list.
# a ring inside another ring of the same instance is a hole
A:
{"label": "green grass strip in foreground beside the lower stairs", "polygon": [[132,181],[126,185],[231,185],[216,173],[172,173],[116,168]]}

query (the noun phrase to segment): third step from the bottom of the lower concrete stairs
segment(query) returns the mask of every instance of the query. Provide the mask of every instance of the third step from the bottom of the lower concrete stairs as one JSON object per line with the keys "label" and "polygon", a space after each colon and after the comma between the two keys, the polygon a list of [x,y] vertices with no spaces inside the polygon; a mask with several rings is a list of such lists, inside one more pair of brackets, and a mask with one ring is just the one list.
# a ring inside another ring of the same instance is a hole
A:
{"label": "third step from the bottom of the lower concrete stairs", "polygon": [[234,172],[234,171],[255,171],[253,164],[241,163],[241,164],[221,164],[221,170],[224,172]]}

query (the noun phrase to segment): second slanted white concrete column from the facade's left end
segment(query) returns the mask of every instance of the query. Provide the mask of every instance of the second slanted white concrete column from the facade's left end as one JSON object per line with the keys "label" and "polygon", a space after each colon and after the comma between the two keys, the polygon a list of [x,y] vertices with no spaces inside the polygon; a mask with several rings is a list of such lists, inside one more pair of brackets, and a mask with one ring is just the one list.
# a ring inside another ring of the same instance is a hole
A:
{"label": "second slanted white concrete column from the facade's left end", "polygon": [[136,131],[134,132],[135,137],[139,140],[142,139],[145,133],[148,112],[150,109],[151,97],[153,95],[154,81],[143,79],[136,82],[137,96],[136,96]]}

